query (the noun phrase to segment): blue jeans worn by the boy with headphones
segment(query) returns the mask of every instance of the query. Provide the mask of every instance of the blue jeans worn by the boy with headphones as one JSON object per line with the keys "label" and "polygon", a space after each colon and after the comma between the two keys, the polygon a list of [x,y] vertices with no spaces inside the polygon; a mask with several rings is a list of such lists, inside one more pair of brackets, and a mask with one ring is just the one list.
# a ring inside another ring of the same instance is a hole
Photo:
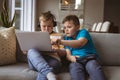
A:
{"label": "blue jeans worn by the boy with headphones", "polygon": [[60,71],[61,63],[57,59],[42,55],[36,49],[30,49],[27,58],[29,68],[38,72],[36,80],[47,80],[47,73],[59,73]]}

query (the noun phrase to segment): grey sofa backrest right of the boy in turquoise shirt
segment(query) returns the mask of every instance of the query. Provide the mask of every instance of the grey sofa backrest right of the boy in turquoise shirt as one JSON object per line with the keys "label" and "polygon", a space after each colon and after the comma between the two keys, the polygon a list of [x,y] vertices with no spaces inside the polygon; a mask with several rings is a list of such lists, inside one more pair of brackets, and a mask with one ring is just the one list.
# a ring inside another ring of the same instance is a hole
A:
{"label": "grey sofa backrest right of the boy in turquoise shirt", "polygon": [[120,65],[120,34],[90,33],[103,65]]}

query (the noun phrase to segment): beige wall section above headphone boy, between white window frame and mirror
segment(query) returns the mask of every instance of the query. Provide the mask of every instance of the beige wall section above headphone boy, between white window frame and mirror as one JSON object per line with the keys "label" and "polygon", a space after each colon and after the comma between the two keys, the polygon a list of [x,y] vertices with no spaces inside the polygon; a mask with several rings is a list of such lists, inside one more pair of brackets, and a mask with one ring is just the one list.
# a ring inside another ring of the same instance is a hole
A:
{"label": "beige wall section above headphone boy, between white window frame and mirror", "polygon": [[36,1],[37,1],[37,6],[36,6],[37,17],[39,17],[39,15],[42,12],[51,11],[58,19],[59,0],[36,0]]}

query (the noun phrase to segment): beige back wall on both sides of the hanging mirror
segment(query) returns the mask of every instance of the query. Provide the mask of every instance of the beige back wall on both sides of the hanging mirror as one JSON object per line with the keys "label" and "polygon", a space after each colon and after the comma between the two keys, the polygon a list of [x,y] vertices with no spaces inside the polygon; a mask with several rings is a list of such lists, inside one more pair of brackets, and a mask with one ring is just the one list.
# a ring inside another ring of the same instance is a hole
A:
{"label": "beige back wall on both sides of the hanging mirror", "polygon": [[[37,0],[37,18],[41,12],[51,11],[59,20],[59,0]],[[84,5],[84,27],[92,27],[94,22],[103,21],[104,0],[85,0]]]}

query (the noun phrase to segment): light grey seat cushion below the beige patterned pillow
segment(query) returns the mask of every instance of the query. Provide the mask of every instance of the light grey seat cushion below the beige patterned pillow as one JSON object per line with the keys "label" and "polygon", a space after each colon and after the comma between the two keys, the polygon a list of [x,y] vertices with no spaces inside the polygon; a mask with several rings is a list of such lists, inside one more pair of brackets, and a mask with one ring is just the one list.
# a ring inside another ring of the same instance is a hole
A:
{"label": "light grey seat cushion below the beige patterned pillow", "polygon": [[27,63],[0,67],[0,80],[35,80],[37,72],[28,68]]}

